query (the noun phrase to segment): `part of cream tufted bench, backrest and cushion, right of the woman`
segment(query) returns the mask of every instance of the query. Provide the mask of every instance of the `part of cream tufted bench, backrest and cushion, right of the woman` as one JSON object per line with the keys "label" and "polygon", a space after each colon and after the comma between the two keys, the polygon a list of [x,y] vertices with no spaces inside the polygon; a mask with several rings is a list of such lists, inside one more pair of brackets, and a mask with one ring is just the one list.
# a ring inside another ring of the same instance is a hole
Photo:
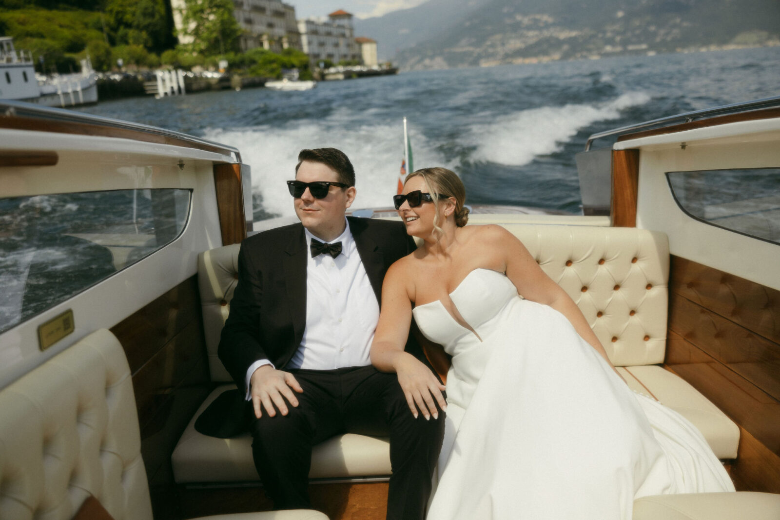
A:
{"label": "part of cream tufted bench, backrest and cushion, right of the woman", "polygon": [[669,248],[664,233],[628,227],[508,224],[576,301],[629,386],[679,412],[721,459],[737,456],[739,427],[664,362]]}

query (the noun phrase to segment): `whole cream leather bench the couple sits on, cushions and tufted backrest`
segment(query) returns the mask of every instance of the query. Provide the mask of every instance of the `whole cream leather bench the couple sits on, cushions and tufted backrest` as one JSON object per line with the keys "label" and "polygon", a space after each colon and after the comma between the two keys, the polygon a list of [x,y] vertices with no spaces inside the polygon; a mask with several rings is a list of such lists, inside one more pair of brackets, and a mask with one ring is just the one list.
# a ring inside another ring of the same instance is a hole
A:
{"label": "whole cream leather bench the couple sits on, cushions and tufted backrest", "polygon": [[[663,233],[605,226],[505,224],[542,269],[573,297],[629,386],[656,397],[696,425],[718,458],[736,458],[739,428],[683,379],[658,366],[664,361],[669,250]],[[217,357],[238,272],[239,244],[205,251],[198,283],[211,380],[231,378]],[[230,385],[230,386],[227,386]],[[196,415],[196,417],[197,417]],[[177,483],[257,481],[248,434],[234,439],[204,436],[195,418],[173,452]],[[311,478],[390,474],[386,439],[347,434],[314,448]]]}

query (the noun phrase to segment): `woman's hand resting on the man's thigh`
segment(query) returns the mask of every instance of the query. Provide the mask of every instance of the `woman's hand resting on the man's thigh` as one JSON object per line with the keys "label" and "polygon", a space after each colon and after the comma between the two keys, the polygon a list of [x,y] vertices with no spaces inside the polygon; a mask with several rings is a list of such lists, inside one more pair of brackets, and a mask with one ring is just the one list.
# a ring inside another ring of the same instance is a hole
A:
{"label": "woman's hand resting on the man's thigh", "polygon": [[[417,408],[420,408],[426,420],[438,418],[438,408],[447,409],[447,401],[441,394],[446,387],[439,383],[431,369],[425,366],[412,354],[403,352],[395,359],[395,373],[398,374],[398,382],[406,396],[406,404],[417,418]],[[438,404],[438,408],[436,405]]]}

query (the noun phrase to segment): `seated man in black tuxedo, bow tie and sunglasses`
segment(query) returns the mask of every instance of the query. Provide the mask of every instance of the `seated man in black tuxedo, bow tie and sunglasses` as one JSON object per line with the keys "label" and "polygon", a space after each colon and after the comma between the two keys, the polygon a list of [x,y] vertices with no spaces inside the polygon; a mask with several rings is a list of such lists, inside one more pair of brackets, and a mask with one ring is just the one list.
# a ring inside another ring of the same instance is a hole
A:
{"label": "seated man in black tuxedo, bow tie and sunglasses", "polygon": [[[345,217],[356,189],[342,151],[302,150],[298,161],[288,185],[301,222],[243,241],[219,343],[251,404],[257,472],[276,509],[308,508],[314,444],[389,434],[387,518],[423,518],[443,415],[414,418],[397,376],[369,359],[382,279],[414,242],[402,223]],[[413,340],[407,349],[424,361]]]}

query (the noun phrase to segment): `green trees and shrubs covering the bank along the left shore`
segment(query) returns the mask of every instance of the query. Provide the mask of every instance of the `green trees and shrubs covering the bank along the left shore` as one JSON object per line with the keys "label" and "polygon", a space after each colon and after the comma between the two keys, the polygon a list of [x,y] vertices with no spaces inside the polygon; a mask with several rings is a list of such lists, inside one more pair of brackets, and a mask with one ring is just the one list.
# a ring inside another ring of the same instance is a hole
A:
{"label": "green trees and shrubs covering the bank along the left shore", "polygon": [[32,52],[41,73],[76,71],[88,55],[99,71],[215,69],[224,59],[232,72],[250,76],[280,77],[282,69],[297,68],[310,77],[309,59],[296,49],[240,52],[232,0],[185,2],[190,45],[177,42],[169,0],[0,0],[0,35]]}

